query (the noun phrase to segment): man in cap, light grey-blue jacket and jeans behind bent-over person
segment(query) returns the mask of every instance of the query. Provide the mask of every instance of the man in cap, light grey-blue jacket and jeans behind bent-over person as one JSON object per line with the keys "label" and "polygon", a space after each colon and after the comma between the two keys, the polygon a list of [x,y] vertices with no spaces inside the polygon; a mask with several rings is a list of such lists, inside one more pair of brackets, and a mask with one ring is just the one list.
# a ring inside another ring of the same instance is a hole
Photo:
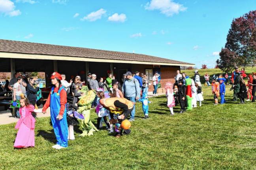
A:
{"label": "man in cap, light grey-blue jacket and jeans behind bent-over person", "polygon": [[[130,100],[131,102],[136,103],[136,100],[140,98],[140,88],[139,88],[139,81],[136,78],[132,77],[131,72],[126,72],[124,74],[126,76],[126,80],[122,86],[122,91],[124,92],[124,96],[126,99]],[[129,121],[134,121],[135,117],[135,107],[133,107],[132,112],[130,114]]]}

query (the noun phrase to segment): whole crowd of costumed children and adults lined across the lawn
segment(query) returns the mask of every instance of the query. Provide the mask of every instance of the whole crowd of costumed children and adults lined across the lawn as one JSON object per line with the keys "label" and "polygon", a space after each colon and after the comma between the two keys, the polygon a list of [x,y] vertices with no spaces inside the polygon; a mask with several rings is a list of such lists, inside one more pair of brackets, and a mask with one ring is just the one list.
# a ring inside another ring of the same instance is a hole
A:
{"label": "whole crowd of costumed children and adults lined across the lawn", "polygon": [[[80,118],[75,115],[75,112],[71,112],[73,115],[67,114],[69,111],[81,111],[80,114],[83,117],[81,119],[84,119],[82,121],[84,131],[81,136],[92,135],[93,131],[98,131],[102,128],[102,123],[106,124],[106,129],[109,133],[115,132],[115,137],[117,138],[123,134],[130,134],[131,130],[125,129],[122,123],[129,115],[130,122],[135,120],[136,107],[134,107],[134,104],[136,102],[142,103],[142,110],[145,115],[144,119],[149,118],[148,103],[150,101],[148,100],[147,92],[150,81],[147,75],[140,76],[139,74],[139,72],[135,72],[134,75],[131,72],[126,72],[121,83],[112,74],[108,74],[108,78],[105,80],[99,78],[99,81],[97,81],[96,74],[88,73],[85,83],[85,81],[81,81],[80,76],[76,76],[73,81],[70,80],[68,82],[66,81],[65,74],[54,72],[51,76],[53,87],[41,111],[45,113],[46,109],[50,107],[51,122],[57,139],[57,143],[53,148],[66,148],[68,147],[68,140],[75,139],[73,126],[79,124],[77,119]],[[156,95],[158,76],[159,74],[155,72],[152,78],[154,96]],[[252,102],[255,101],[256,74],[248,75],[247,84],[244,80],[245,77],[247,77],[245,70],[239,71],[237,67],[231,76],[233,100],[236,101],[239,98],[241,104],[245,103],[245,99],[252,100]],[[13,91],[13,100],[20,100],[21,102],[21,108],[17,112],[17,115],[21,116],[21,119],[15,127],[19,128],[19,131],[14,147],[26,148],[34,146],[34,138],[31,135],[33,136],[34,134],[35,120],[30,115],[32,112],[40,111],[35,109],[35,98],[31,97],[31,94],[35,94],[38,91],[38,87],[33,86],[33,79],[30,79],[26,83],[19,73],[15,73],[15,78],[17,81],[14,82],[14,80],[11,80],[9,82],[9,89]],[[214,75],[210,78],[208,74],[205,74],[204,78],[206,85],[209,85],[209,81],[211,81],[214,104],[218,104],[219,97],[221,98],[221,104],[226,103],[226,78],[228,77],[226,75],[225,77]],[[23,93],[22,89],[24,87],[27,92],[24,93],[26,94],[25,96],[22,96],[20,94]],[[180,71],[177,70],[175,83],[167,82],[164,88],[166,90],[167,107],[171,115],[174,115],[173,107],[177,105],[181,107],[180,113],[184,113],[186,110],[197,107],[198,102],[199,106],[202,104],[203,92],[198,70],[195,70],[193,79],[185,73],[180,74]],[[93,93],[88,91],[93,91]],[[90,98],[90,102],[89,99],[87,101],[80,101],[85,99],[85,95],[89,94],[90,96],[88,98]],[[95,108],[98,116],[96,127],[90,121],[90,108]],[[87,112],[88,110],[89,112]],[[21,137],[24,133],[30,135],[27,135],[25,138]]]}

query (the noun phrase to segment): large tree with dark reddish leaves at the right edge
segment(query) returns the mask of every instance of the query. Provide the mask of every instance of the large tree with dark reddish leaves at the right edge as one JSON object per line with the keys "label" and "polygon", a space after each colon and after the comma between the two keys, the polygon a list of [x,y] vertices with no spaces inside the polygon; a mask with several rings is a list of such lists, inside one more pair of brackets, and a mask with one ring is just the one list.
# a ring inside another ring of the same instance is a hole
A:
{"label": "large tree with dark reddish leaves at the right edge", "polygon": [[220,52],[217,65],[224,71],[234,66],[254,65],[256,60],[256,11],[250,11],[232,21],[225,48]]}

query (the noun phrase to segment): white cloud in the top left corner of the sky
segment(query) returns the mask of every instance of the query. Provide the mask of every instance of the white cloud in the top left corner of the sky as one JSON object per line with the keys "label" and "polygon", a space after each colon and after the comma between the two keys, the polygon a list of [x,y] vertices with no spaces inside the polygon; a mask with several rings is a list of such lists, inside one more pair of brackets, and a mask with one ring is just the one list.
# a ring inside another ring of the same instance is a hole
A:
{"label": "white cloud in the top left corner of the sky", "polygon": [[10,17],[21,15],[20,10],[15,10],[15,5],[10,0],[0,0],[0,13],[9,15]]}

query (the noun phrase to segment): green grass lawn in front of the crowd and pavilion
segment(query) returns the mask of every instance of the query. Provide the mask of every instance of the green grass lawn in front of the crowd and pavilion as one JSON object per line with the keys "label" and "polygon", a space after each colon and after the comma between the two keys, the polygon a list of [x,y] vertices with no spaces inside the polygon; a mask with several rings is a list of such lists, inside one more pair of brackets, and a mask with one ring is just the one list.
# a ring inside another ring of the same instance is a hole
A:
{"label": "green grass lawn in front of the crowd and pavilion", "polygon": [[[211,87],[203,87],[202,107],[171,116],[166,97],[151,98],[150,119],[136,104],[132,133],[119,139],[106,130],[78,137],[62,150],[51,148],[55,135],[49,118],[36,122],[36,146],[13,149],[15,124],[0,126],[0,169],[90,170],[90,169],[256,169],[255,103],[232,102],[214,106]],[[96,114],[91,113],[96,123]]]}

